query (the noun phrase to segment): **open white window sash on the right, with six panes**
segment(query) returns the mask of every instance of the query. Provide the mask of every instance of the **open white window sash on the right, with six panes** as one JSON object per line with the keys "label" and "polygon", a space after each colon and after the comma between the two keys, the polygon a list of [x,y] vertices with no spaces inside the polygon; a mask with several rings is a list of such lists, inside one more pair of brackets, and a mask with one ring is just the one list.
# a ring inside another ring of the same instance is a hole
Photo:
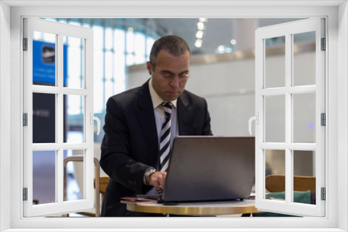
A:
{"label": "open white window sash on the right, with six panes", "polygon": [[[325,56],[321,51],[321,39],[326,38],[324,19],[301,19],[285,24],[276,24],[258,28],[255,32],[255,110],[259,115],[258,124],[255,124],[255,206],[258,210],[274,213],[289,213],[292,215],[310,215],[323,217],[325,215],[325,201],[321,200],[321,188],[325,188],[325,126],[321,126],[321,113],[325,113]],[[294,39],[293,35],[315,31],[315,85],[294,86]],[[267,88],[265,76],[266,44],[269,38],[285,36],[285,85],[279,88]],[[314,143],[294,142],[294,94],[315,93],[315,129]],[[284,96],[285,108],[285,140],[284,142],[267,142],[265,117],[265,97]],[[265,156],[266,150],[285,151],[285,201],[266,199],[265,197]],[[299,204],[294,199],[294,151],[315,151],[316,172],[316,204]]]}

